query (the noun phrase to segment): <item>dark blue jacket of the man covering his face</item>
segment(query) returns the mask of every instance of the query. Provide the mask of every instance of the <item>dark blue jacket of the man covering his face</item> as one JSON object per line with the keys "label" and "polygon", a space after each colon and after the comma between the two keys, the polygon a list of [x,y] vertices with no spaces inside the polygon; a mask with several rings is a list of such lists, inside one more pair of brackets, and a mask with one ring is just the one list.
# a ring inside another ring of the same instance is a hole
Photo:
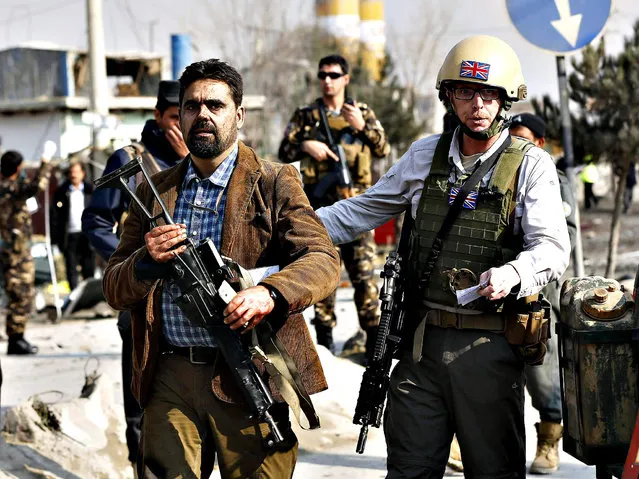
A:
{"label": "dark blue jacket of the man covering his face", "polygon": [[[142,144],[153,155],[162,170],[174,166],[181,160],[155,120],[148,120],[144,125]],[[131,157],[126,150],[119,149],[109,157],[102,174],[106,175],[130,160]],[[95,190],[82,213],[82,231],[105,260],[109,259],[118,246],[115,225],[121,220],[122,214],[129,209],[129,203],[129,197],[121,190],[101,188]]]}

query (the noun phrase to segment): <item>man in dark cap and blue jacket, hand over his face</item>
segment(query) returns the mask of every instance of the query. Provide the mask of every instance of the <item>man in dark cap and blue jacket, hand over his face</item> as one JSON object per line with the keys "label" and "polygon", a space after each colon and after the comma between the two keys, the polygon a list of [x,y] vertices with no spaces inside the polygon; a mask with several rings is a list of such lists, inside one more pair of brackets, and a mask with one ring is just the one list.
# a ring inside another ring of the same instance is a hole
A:
{"label": "man in dark cap and blue jacket, hand over his face", "polygon": [[[176,81],[161,81],[153,112],[154,119],[148,120],[142,130],[142,140],[115,151],[107,160],[104,174],[108,174],[141,156],[151,174],[176,165],[189,150],[179,128],[178,103],[180,84]],[[138,183],[138,175],[133,183]],[[135,188],[135,184],[131,185]],[[82,214],[82,231],[89,242],[105,261],[118,246],[122,220],[129,209],[129,198],[119,189],[97,190]],[[131,337],[131,314],[121,311],[118,315],[118,330],[122,337],[122,389],[124,394],[124,415],[126,417],[126,442],[129,461],[135,463],[140,442],[142,408],[131,392],[133,377],[133,338]]]}

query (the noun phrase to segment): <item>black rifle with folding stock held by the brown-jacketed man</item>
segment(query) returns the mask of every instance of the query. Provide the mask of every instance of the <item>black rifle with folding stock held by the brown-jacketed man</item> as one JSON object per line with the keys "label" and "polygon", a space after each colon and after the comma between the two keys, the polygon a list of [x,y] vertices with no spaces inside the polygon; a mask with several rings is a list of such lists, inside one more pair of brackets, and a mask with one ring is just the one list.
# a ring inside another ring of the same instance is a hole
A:
{"label": "black rifle with folding stock held by the brown-jacketed man", "polygon": [[[157,216],[147,210],[129,186],[129,179],[140,171],[162,210]],[[140,208],[152,227],[158,226],[159,219],[166,224],[174,224],[140,156],[97,179],[95,186],[123,190]],[[180,295],[173,298],[173,301],[189,321],[206,328],[215,337],[217,347],[233,372],[237,386],[244,393],[251,417],[265,421],[271,429],[267,445],[272,447],[281,443],[284,437],[269,413],[274,401],[253,364],[253,355],[242,343],[239,334],[222,321],[222,311],[236,295],[231,285],[238,283],[236,271],[239,271],[239,265],[232,262],[227,264],[209,238],[198,244],[188,238],[178,247],[182,245],[186,245],[186,250],[167,263],[169,274],[166,281],[175,284],[180,291]]]}

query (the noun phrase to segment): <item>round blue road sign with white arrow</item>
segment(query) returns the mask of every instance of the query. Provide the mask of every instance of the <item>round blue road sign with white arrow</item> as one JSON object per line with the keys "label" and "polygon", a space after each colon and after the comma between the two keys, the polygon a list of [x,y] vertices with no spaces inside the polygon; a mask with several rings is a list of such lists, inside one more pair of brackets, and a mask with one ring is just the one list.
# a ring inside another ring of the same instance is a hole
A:
{"label": "round blue road sign with white arrow", "polygon": [[533,45],[563,54],[579,50],[601,32],[612,0],[506,0],[510,20]]}

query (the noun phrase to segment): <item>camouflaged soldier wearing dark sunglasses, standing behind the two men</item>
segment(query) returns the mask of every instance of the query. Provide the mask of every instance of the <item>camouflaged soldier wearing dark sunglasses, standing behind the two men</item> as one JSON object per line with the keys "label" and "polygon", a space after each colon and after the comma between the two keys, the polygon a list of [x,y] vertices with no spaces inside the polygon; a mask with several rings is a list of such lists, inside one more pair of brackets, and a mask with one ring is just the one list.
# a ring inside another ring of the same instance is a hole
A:
{"label": "camouflaged soldier wearing dark sunglasses, standing behind the two men", "polygon": [[[314,103],[298,108],[289,122],[280,145],[279,157],[284,163],[300,161],[304,190],[314,208],[329,206],[343,198],[358,195],[371,186],[371,163],[383,158],[390,145],[375,113],[365,103],[354,102],[346,96],[350,81],[348,63],[339,55],[324,57],[319,62],[318,78],[322,97]],[[328,139],[320,120],[320,106],[326,110],[328,126],[333,140],[344,148],[352,188],[334,184],[318,194],[317,188],[333,170],[338,157],[329,148]],[[372,231],[360,235],[355,241],[340,245],[342,259],[355,289],[355,305],[360,327],[347,341],[344,356],[369,349],[365,344],[374,341],[379,323],[377,286],[374,275],[375,242]],[[335,293],[315,305],[315,331],[317,342],[334,351],[332,330],[336,323]]]}

